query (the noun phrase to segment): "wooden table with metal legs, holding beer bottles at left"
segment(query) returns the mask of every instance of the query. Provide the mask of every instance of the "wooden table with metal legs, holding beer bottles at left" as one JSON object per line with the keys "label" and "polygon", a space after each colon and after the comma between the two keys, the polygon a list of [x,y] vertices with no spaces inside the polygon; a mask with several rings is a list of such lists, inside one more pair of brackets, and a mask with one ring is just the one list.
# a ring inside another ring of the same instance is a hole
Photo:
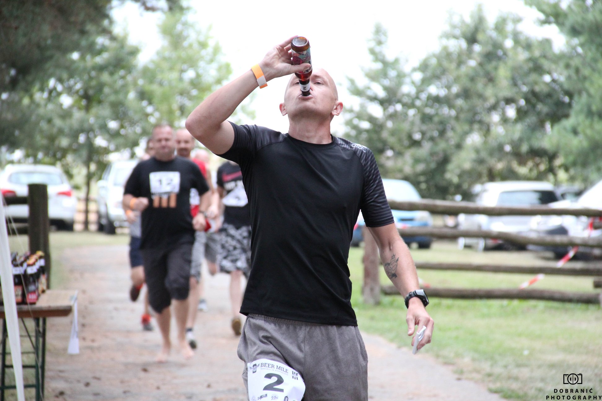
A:
{"label": "wooden table with metal legs, holding beer bottles at left", "polygon": [[[44,399],[44,378],[46,371],[46,318],[69,316],[77,300],[75,290],[48,290],[40,295],[36,305],[17,305],[17,317],[21,319],[22,327],[19,329],[20,337],[26,338],[31,344],[31,351],[22,349],[22,355],[34,355],[33,364],[23,363],[23,370],[34,369],[36,373],[35,384],[25,384],[25,388],[36,388],[36,401]],[[2,319],[2,340],[0,343],[0,401],[5,400],[5,390],[14,390],[16,386],[6,384],[6,370],[13,369],[12,363],[7,364],[7,339],[8,331],[4,319],[4,306],[0,306],[0,319]],[[32,337],[24,319],[33,319],[34,335]],[[25,335],[23,332],[25,331]]]}

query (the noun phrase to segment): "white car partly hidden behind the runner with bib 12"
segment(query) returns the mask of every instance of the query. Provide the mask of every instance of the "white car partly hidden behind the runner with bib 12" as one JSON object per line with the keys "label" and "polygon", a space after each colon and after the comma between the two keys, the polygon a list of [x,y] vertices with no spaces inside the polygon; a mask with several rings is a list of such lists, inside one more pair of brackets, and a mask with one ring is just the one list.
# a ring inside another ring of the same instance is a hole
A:
{"label": "white car partly hidden behind the runner with bib 12", "polygon": [[114,234],[117,227],[129,227],[123,212],[123,187],[137,160],[113,162],[98,182],[98,231]]}

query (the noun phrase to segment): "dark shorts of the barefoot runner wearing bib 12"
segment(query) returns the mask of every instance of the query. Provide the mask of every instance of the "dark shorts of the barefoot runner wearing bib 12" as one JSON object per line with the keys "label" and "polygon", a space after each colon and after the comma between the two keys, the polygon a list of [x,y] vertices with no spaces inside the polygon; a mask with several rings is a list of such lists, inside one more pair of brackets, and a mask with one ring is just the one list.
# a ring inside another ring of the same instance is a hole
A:
{"label": "dark shorts of the barefoot runner wearing bib 12", "polygon": [[191,243],[178,243],[163,249],[140,249],[149,304],[161,313],[172,299],[184,301],[190,291]]}

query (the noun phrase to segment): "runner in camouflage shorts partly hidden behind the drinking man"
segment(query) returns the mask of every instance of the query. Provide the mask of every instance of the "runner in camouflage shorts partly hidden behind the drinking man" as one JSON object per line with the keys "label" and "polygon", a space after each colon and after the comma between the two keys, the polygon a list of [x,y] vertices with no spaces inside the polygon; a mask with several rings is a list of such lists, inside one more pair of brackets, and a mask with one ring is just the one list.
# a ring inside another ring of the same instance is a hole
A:
{"label": "runner in camouflage shorts partly hidden behind the drinking man", "polygon": [[251,268],[251,222],[243,173],[238,164],[228,161],[217,169],[217,197],[224,205],[217,261],[220,271],[230,275],[231,326],[234,334],[240,335],[240,305],[243,301],[241,281],[243,274],[249,277]]}

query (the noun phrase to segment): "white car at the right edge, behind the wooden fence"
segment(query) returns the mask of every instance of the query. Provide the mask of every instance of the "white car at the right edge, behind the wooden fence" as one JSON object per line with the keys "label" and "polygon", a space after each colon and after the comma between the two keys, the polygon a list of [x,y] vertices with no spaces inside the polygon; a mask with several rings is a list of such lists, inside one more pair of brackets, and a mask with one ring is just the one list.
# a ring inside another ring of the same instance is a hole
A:
{"label": "white car at the right edge, behind the wooden fence", "polygon": [[[550,203],[550,207],[574,207],[578,209],[602,209],[602,180],[589,188],[577,200],[562,200]],[[568,235],[573,237],[598,237],[602,230],[589,230],[590,219],[585,216],[534,216],[531,220],[531,234],[539,235]],[[570,246],[533,246],[529,249],[537,251],[552,251],[557,259],[565,256]],[[580,246],[576,257],[600,257],[602,249]]]}

